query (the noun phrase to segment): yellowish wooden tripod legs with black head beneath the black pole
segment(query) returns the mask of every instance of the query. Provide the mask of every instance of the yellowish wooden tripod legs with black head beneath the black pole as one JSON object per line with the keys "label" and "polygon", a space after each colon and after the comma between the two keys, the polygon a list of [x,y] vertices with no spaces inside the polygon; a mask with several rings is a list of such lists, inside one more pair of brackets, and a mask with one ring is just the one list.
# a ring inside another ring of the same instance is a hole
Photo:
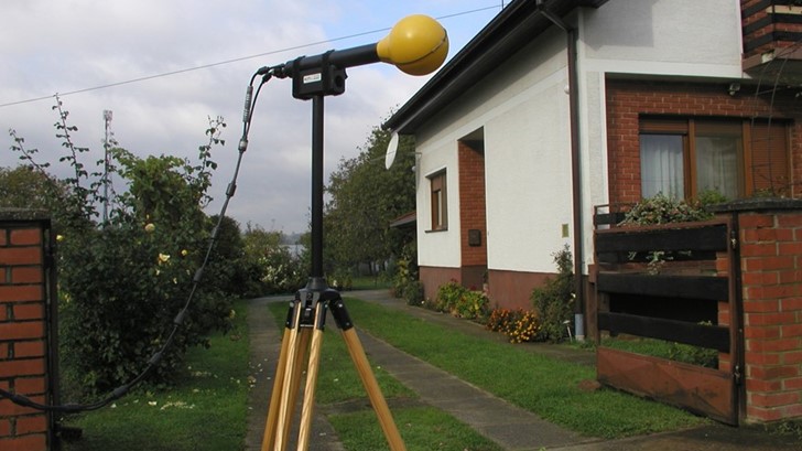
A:
{"label": "yellowish wooden tripod legs with black head beneath the black pole", "polygon": [[407,448],[392,419],[387,400],[376,382],[376,376],[370,369],[370,364],[365,355],[359,336],[354,330],[354,323],[348,315],[345,303],[339,293],[332,289],[325,289],[324,291],[300,290],[290,304],[273,380],[268,421],[264,426],[262,451],[283,451],[286,449],[301,386],[303,364],[306,357],[308,357],[306,385],[301,409],[297,450],[308,448],[326,310],[332,311],[337,326],[343,332],[348,353],[351,361],[354,361],[357,373],[359,373],[370,404],[378,416],[384,438],[390,444],[390,450],[404,451]]}

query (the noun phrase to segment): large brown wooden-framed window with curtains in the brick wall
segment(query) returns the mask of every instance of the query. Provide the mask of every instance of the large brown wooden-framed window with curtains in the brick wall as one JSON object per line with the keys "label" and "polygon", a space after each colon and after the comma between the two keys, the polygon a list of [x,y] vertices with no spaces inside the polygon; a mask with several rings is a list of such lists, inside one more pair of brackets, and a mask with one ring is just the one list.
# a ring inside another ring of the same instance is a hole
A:
{"label": "large brown wooden-framed window with curtains in the brick wall", "polygon": [[782,194],[789,180],[787,133],[779,121],[641,118],[641,195]]}

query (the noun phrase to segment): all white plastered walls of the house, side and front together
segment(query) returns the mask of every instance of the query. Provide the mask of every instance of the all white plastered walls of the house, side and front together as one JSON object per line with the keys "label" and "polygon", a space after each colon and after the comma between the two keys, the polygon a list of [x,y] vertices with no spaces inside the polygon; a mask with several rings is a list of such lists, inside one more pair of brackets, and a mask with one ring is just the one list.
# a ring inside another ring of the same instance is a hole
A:
{"label": "all white plastered walls of the house, side and front together", "polygon": [[[579,148],[584,262],[593,206],[608,202],[605,79],[743,76],[738,0],[609,0],[565,21],[579,30]],[[488,268],[552,272],[573,241],[565,32],[553,26],[420,129],[419,259],[459,267],[457,140],[484,129]],[[447,232],[431,225],[425,175],[447,168]],[[568,224],[572,237],[562,237]]]}

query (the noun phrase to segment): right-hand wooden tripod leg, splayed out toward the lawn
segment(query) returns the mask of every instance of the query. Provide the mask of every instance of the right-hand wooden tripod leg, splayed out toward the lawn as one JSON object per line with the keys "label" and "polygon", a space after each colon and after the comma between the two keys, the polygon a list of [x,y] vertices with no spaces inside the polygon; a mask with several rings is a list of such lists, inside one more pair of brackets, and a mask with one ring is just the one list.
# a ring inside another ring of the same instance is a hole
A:
{"label": "right-hand wooden tripod leg, splayed out toward the lawn", "polygon": [[337,325],[343,331],[343,339],[345,340],[346,346],[348,346],[348,353],[350,354],[354,366],[359,373],[359,377],[362,379],[365,390],[368,393],[370,404],[373,406],[377,417],[379,418],[379,425],[381,430],[384,432],[384,438],[390,445],[391,451],[405,451],[401,433],[395,426],[395,421],[392,418],[390,408],[387,406],[387,400],[381,394],[379,383],[376,380],[373,372],[370,369],[370,363],[368,357],[365,356],[365,348],[362,343],[359,341],[356,330],[354,330],[354,323],[348,316],[348,311],[345,308],[343,300],[332,301],[329,309],[334,316]]}

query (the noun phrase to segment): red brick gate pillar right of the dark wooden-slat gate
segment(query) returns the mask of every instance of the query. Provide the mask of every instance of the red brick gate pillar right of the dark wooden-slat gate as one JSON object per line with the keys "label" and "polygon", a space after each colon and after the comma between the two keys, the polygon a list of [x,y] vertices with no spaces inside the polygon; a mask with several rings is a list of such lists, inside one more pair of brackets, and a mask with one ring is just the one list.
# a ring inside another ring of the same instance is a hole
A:
{"label": "red brick gate pillar right of the dark wooden-slat gate", "polygon": [[802,417],[802,202],[738,214],[746,417]]}

